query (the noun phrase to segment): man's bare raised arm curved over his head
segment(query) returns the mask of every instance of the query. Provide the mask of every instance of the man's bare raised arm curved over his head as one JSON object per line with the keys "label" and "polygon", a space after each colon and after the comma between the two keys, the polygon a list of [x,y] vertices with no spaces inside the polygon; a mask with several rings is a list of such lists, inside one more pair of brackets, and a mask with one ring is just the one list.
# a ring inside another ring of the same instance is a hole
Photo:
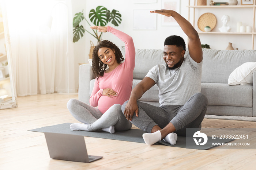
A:
{"label": "man's bare raised arm curved over his head", "polygon": [[165,16],[172,16],[189,38],[188,50],[190,57],[197,63],[200,63],[203,60],[203,51],[199,35],[191,23],[188,22],[188,20],[183,18],[179,13],[172,10],[161,9],[150,12],[160,13]]}

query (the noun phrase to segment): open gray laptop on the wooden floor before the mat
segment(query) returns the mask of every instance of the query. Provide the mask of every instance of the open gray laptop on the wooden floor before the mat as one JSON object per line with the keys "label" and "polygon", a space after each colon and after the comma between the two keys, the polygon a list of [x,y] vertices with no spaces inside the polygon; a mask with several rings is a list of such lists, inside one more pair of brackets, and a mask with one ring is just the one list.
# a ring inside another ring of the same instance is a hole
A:
{"label": "open gray laptop on the wooden floor before the mat", "polygon": [[87,154],[83,136],[50,132],[44,134],[52,159],[89,163],[102,158]]}

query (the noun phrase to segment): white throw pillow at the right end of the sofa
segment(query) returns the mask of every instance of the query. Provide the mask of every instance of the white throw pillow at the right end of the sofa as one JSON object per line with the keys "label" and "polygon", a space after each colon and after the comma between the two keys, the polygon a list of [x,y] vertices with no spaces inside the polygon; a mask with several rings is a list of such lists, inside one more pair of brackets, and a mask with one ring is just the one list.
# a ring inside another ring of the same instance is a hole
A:
{"label": "white throw pillow at the right end of the sofa", "polygon": [[253,72],[256,71],[256,62],[243,63],[237,67],[229,76],[229,85],[251,85]]}

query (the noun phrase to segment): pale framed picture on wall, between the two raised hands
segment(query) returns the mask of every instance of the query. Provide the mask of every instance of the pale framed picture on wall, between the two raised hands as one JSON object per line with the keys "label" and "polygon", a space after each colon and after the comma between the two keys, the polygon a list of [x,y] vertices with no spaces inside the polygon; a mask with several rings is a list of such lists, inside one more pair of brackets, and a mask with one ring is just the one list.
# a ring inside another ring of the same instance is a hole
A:
{"label": "pale framed picture on wall, between the two raised hands", "polygon": [[157,30],[157,15],[152,15],[149,11],[150,9],[133,10],[133,30]]}

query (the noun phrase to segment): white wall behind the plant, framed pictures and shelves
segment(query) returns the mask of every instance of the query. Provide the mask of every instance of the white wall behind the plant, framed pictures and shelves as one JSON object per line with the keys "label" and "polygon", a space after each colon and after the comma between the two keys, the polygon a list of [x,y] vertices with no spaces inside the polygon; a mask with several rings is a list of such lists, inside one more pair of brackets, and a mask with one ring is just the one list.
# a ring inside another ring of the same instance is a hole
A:
{"label": "white wall behind the plant, framed pictures and shelves", "polygon": [[[207,0],[209,1],[209,0]],[[227,1],[227,0],[219,0]],[[118,30],[121,30],[128,35],[132,36],[135,48],[137,49],[163,49],[163,42],[167,36],[170,35],[180,35],[184,38],[187,43],[187,36],[183,33],[179,26],[161,26],[161,15],[152,13],[152,15],[157,15],[157,30],[133,30],[133,10],[134,9],[148,9],[150,10],[161,9],[162,0],[157,0],[157,3],[148,3],[148,4],[134,4],[133,0],[72,0],[73,13],[77,13],[84,9],[84,16],[89,20],[89,12],[91,9],[96,9],[98,5],[102,5],[112,11],[112,9],[118,10],[122,15],[122,22],[120,26],[115,27]],[[208,2],[207,2],[208,3]],[[238,5],[240,1],[238,2]],[[188,0],[180,0],[180,14],[188,19]],[[252,9],[247,8],[237,8],[237,9],[199,9],[199,12],[196,12],[195,15],[195,28],[199,32],[200,30],[197,27],[197,19],[200,15],[206,12],[214,13],[217,17],[217,24],[214,30],[218,31],[218,28],[222,26],[221,17],[222,15],[229,15],[230,21],[229,26],[232,27],[231,31],[236,32],[236,23],[237,21],[242,21],[243,24],[252,26],[253,15]],[[191,8],[191,19],[192,22],[192,8]],[[141,16],[143,18],[143,16]],[[113,26],[111,23],[110,26]],[[83,22],[83,26],[90,31],[89,25]],[[113,26],[114,27],[114,26]],[[210,45],[211,49],[225,50],[228,43],[233,43],[234,48],[238,49],[251,49],[252,39],[251,35],[203,35],[199,34],[201,43]],[[103,39],[108,39],[114,42],[117,46],[123,46],[124,43],[119,40],[116,36],[111,33],[103,33]],[[93,41],[94,45],[97,43],[97,40],[86,33],[86,35],[80,39],[78,42],[74,43],[75,57],[78,74],[78,63],[86,63],[89,59],[90,51],[90,40]],[[76,79],[78,80],[78,78]]]}

